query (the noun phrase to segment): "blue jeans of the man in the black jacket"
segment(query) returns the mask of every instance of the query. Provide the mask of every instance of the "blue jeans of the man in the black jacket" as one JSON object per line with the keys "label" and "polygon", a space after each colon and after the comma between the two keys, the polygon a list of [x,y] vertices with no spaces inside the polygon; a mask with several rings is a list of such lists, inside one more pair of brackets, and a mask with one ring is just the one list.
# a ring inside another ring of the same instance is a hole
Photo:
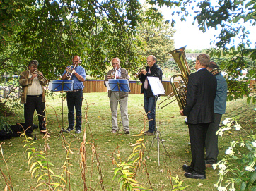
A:
{"label": "blue jeans of the man in the black jacket", "polygon": [[149,132],[153,133],[156,130],[156,97],[146,97],[146,90],[144,90],[144,109],[148,113]]}

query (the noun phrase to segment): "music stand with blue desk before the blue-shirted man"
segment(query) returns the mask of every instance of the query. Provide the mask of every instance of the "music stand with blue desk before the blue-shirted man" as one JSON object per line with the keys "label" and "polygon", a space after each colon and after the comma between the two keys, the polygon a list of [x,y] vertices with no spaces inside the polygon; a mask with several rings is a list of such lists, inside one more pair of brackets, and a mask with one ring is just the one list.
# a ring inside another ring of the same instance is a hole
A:
{"label": "music stand with blue desk before the blue-shirted man", "polygon": [[[74,80],[53,80],[52,81],[52,91],[53,92],[69,92],[69,91],[73,91],[73,84],[74,84]],[[70,133],[69,131],[64,129],[64,118],[63,118],[63,102],[64,102],[64,96],[63,94],[61,95],[62,97],[62,129],[59,131],[59,133],[56,135],[56,137],[59,137],[60,135],[62,135],[63,132],[69,133],[71,135],[73,135],[74,137],[76,137],[76,135],[74,135],[73,133]],[[79,137],[76,137],[79,139]]]}

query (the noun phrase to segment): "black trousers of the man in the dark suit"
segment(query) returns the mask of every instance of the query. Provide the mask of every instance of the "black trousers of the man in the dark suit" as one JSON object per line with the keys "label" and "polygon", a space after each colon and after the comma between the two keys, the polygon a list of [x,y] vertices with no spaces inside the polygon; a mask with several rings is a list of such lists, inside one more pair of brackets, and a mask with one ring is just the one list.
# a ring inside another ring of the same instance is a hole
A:
{"label": "black trousers of the man in the dark suit", "polygon": [[204,142],[210,123],[188,124],[190,133],[191,166],[199,174],[205,174]]}

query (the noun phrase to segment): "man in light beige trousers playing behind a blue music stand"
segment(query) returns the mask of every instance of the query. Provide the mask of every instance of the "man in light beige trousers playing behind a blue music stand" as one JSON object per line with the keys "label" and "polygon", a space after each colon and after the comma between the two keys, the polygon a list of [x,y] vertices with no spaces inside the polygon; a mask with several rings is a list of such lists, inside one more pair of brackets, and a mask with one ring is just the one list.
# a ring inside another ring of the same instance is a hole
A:
{"label": "man in light beige trousers playing behind a blue music stand", "polygon": [[[129,80],[128,72],[124,68],[120,68],[120,59],[112,59],[113,69],[107,72],[105,75],[104,85],[108,79],[127,79]],[[128,119],[128,92],[112,92],[108,90],[108,97],[110,98],[110,108],[112,113],[112,133],[117,133],[117,106],[120,104],[122,125],[124,128],[124,134],[129,134],[129,119]]]}

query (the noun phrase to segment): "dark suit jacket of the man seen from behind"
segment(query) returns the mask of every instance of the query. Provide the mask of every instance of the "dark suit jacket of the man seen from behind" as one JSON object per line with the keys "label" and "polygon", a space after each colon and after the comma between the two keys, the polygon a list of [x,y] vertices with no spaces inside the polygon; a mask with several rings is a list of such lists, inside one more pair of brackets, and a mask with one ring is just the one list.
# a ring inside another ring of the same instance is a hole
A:
{"label": "dark suit jacket of the man seen from behind", "polygon": [[187,123],[214,122],[214,99],[217,80],[206,68],[190,74],[187,85],[187,98],[183,114]]}

